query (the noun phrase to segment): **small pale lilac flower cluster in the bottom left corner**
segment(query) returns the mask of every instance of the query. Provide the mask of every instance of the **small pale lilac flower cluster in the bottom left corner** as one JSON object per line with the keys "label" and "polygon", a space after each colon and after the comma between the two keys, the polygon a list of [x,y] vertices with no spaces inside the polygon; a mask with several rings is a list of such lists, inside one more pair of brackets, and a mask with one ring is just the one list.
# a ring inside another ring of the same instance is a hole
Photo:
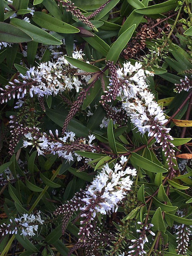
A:
{"label": "small pale lilac flower cluster in the bottom left corner", "polygon": [[40,211],[36,215],[24,213],[20,218],[15,218],[15,224],[13,224],[12,219],[10,223],[3,223],[0,225],[0,232],[2,236],[5,234],[17,234],[18,228],[21,229],[21,235],[23,236],[35,236],[35,232],[38,230],[39,224],[43,225],[44,220],[41,219]]}

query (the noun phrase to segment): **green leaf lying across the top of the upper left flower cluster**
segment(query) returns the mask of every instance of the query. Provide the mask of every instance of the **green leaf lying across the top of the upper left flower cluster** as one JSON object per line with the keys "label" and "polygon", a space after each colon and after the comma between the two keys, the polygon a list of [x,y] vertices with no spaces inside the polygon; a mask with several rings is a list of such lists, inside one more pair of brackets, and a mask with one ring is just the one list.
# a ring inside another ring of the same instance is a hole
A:
{"label": "green leaf lying across the top of the upper left flower cluster", "polygon": [[96,66],[93,66],[87,62],[84,62],[82,60],[77,60],[68,56],[65,56],[65,59],[72,64],[73,66],[82,69],[85,72],[101,72],[100,69]]}

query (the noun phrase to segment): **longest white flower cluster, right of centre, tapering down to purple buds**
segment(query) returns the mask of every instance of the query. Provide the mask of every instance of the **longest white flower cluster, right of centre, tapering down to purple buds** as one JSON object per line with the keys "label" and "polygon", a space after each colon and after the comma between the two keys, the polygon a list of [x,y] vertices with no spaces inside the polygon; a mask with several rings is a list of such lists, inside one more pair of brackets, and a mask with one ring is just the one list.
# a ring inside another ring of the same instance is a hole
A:
{"label": "longest white flower cluster, right of centre, tapering down to purple buds", "polygon": [[[149,137],[154,136],[156,142],[162,145],[169,169],[174,172],[172,166],[175,164],[172,159],[175,158],[175,151],[172,149],[174,145],[170,142],[173,138],[168,134],[171,128],[164,126],[167,119],[165,119],[162,108],[154,101],[154,94],[149,91],[146,83],[146,75],[153,76],[153,73],[143,70],[138,62],[135,62],[135,65],[126,62],[123,68],[116,70],[116,74],[119,86],[116,92],[123,101],[122,108],[140,133],[148,132]],[[106,96],[102,96],[104,101],[110,101],[109,96],[114,90],[113,80],[109,81],[111,82],[108,87],[109,91]]]}

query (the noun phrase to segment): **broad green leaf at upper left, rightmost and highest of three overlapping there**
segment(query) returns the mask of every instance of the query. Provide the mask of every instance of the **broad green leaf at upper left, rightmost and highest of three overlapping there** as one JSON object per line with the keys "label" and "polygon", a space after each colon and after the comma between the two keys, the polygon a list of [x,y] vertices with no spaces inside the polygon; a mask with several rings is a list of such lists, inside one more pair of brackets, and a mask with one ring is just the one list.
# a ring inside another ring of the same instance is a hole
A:
{"label": "broad green leaf at upper left, rightmost and highest of three overlapping there", "polygon": [[44,12],[34,12],[32,20],[40,27],[46,28],[58,33],[72,34],[78,33],[80,30],[64,21],[58,20]]}

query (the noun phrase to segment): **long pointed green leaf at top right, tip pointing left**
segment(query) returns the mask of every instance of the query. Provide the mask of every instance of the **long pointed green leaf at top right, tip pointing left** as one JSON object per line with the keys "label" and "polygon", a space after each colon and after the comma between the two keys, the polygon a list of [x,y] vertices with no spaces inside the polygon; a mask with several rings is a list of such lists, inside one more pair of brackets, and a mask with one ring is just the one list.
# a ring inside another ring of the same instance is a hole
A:
{"label": "long pointed green leaf at top right, tip pointing left", "polygon": [[171,10],[175,10],[175,8],[178,6],[177,2],[177,0],[169,0],[161,4],[155,4],[141,9],[136,9],[135,12],[145,15],[165,13]]}

